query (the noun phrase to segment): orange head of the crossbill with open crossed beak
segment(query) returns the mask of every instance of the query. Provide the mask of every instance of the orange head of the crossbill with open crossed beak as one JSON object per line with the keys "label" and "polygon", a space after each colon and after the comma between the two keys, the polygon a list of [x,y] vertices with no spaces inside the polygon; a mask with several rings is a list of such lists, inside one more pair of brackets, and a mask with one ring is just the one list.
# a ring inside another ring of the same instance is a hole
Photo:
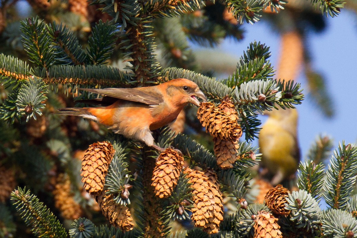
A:
{"label": "orange head of the crossbill with open crossed beak", "polygon": [[200,106],[200,101],[197,97],[207,102],[205,94],[200,90],[196,83],[188,79],[174,79],[161,85],[167,84],[166,93],[178,104],[192,103],[197,107]]}

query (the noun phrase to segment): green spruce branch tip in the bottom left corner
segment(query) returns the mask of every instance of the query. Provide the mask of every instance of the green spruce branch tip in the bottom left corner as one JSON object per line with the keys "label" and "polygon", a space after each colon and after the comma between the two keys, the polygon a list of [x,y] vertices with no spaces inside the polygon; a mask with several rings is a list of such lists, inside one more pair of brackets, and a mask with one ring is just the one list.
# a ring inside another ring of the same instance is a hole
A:
{"label": "green spruce branch tip in the bottom left corner", "polygon": [[16,210],[28,226],[39,237],[66,238],[67,232],[54,214],[26,188],[17,188],[11,193]]}

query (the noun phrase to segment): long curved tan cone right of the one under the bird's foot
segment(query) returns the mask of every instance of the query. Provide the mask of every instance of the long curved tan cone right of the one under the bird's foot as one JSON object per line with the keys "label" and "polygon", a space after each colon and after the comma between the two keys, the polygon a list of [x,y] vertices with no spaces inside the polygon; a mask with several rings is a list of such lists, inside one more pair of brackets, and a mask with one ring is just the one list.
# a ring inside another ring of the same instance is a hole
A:
{"label": "long curved tan cone right of the one under the bird's foot", "polygon": [[186,168],[184,173],[193,188],[192,220],[208,234],[218,233],[223,220],[223,198],[216,184],[205,173]]}

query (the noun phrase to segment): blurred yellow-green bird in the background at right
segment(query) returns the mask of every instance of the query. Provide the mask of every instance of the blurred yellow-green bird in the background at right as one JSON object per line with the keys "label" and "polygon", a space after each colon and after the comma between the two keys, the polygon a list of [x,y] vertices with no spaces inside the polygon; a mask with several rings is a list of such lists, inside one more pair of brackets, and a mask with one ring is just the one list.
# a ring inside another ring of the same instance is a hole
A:
{"label": "blurred yellow-green bird in the background at right", "polygon": [[296,109],[266,111],[267,121],[259,134],[262,167],[267,168],[272,185],[294,177],[300,161]]}

